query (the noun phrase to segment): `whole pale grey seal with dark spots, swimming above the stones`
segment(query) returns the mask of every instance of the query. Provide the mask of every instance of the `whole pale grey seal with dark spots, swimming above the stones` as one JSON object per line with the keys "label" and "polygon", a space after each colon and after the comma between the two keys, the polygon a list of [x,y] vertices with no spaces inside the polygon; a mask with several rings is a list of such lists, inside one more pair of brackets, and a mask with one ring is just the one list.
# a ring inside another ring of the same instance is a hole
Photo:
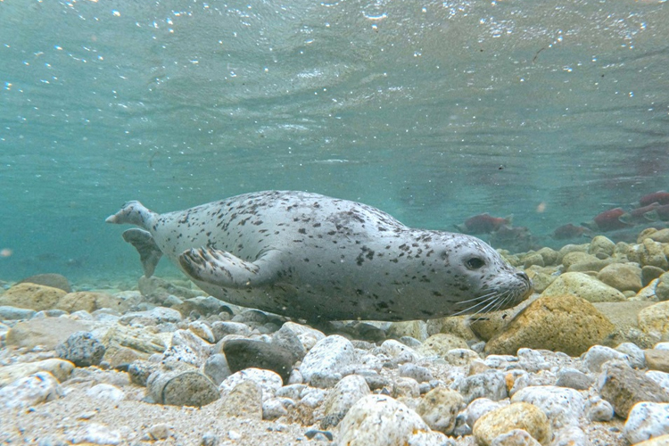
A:
{"label": "whole pale grey seal with dark spots, swimming above the stones", "polygon": [[128,202],[108,223],[146,277],[166,255],[222,301],[310,321],[412,320],[503,310],[527,275],[472,236],[406,227],[384,211],[320,194],[242,194],[157,214]]}

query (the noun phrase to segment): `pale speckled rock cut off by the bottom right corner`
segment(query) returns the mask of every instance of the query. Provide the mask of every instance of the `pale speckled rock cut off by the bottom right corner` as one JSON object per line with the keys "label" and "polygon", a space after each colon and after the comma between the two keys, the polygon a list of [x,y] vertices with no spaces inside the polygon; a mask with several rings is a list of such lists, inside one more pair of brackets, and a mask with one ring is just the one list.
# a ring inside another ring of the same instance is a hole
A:
{"label": "pale speckled rock cut off by the bottom right corner", "polygon": [[623,434],[632,444],[669,434],[669,404],[657,402],[635,404],[627,417]]}

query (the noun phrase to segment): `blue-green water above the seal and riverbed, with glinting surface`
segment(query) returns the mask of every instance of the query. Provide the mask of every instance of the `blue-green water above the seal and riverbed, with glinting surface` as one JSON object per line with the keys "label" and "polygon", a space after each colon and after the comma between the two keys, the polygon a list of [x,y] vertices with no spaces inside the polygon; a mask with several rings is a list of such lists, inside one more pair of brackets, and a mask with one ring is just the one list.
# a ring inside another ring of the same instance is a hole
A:
{"label": "blue-green water above the seal and riverbed, with glinting surface", "polygon": [[555,244],[669,188],[668,8],[0,1],[0,278],[139,276],[123,202],[263,189]]}

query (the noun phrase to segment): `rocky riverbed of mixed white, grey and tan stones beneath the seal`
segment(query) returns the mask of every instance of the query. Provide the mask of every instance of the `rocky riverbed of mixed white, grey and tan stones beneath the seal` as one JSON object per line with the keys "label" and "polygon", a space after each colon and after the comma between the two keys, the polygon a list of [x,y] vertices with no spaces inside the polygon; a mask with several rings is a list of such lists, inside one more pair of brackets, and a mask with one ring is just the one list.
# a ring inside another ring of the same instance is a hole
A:
{"label": "rocky riverbed of mixed white, grey and tan stones beneath the seal", "polygon": [[669,229],[503,252],[515,309],[309,326],[181,277],[0,291],[0,442],[669,444]]}

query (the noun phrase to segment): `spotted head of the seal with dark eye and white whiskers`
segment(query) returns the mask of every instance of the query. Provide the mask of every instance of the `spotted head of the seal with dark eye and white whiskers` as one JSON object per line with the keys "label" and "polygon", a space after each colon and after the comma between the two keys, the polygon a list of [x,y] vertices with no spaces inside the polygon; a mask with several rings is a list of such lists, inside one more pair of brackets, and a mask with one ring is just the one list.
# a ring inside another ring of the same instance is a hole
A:
{"label": "spotted head of the seal with dark eye and white whiskers", "polygon": [[449,289],[463,296],[456,304],[456,315],[505,310],[532,293],[527,274],[509,265],[489,244],[462,234],[444,242],[442,260]]}

